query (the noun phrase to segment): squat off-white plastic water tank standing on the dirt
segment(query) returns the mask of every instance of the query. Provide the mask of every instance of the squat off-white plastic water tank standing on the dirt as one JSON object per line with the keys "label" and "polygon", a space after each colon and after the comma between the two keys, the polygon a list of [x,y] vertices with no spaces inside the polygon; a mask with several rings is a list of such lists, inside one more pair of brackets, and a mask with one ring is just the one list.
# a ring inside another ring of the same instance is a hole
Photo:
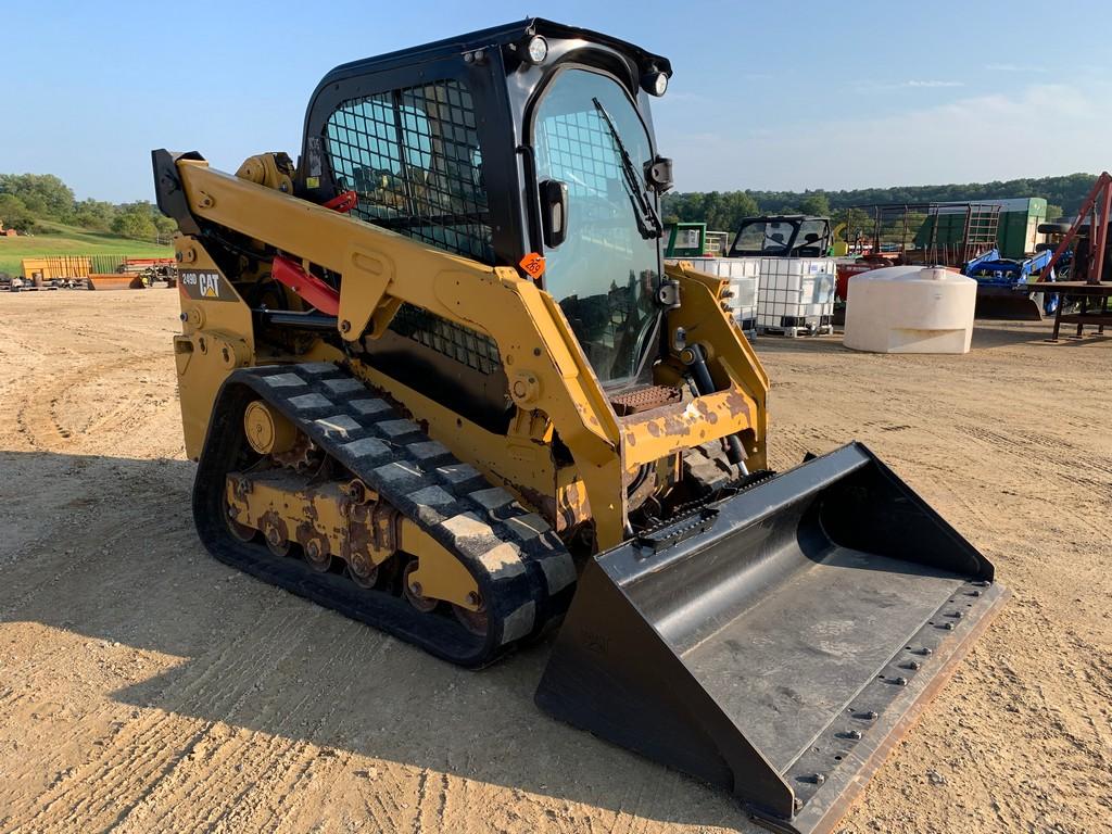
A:
{"label": "squat off-white plastic water tank standing on the dirt", "polygon": [[842,344],[875,354],[967,354],[976,281],[942,267],[850,277]]}

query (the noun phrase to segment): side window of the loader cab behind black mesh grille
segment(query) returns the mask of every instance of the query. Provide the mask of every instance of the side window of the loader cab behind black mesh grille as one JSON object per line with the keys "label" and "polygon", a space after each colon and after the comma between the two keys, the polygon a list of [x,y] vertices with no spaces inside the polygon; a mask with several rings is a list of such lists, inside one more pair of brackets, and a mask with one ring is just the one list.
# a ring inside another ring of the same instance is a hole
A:
{"label": "side window of the loader cab behind black mesh grille", "polygon": [[494,264],[471,95],[436,81],[350,99],[325,126],[332,176],[359,192],[356,215]]}

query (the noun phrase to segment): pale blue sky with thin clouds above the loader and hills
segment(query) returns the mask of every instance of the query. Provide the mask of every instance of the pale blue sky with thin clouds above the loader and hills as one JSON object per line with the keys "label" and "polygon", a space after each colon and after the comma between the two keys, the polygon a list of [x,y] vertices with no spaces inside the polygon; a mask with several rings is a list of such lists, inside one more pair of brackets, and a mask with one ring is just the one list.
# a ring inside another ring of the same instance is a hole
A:
{"label": "pale blue sky with thin clouds above the loader and hills", "polygon": [[0,0],[0,172],[119,202],[153,199],[152,148],[296,159],[331,67],[527,16],[671,59],[653,118],[681,191],[1112,167],[1108,0]]}

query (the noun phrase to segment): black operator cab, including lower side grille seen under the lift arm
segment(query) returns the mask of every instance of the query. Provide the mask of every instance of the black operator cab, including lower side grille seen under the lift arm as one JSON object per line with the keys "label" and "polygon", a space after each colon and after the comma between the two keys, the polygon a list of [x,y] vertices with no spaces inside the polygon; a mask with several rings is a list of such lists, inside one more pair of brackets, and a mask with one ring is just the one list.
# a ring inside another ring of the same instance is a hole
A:
{"label": "black operator cab, including lower side grille seen under the lift arm", "polygon": [[[534,278],[603,386],[641,385],[659,350],[671,187],[649,98],[671,75],[631,43],[539,19],[348,63],[310,100],[296,190],[320,203],[355,191],[354,217]],[[484,334],[406,306],[365,342],[483,423],[508,414]]]}

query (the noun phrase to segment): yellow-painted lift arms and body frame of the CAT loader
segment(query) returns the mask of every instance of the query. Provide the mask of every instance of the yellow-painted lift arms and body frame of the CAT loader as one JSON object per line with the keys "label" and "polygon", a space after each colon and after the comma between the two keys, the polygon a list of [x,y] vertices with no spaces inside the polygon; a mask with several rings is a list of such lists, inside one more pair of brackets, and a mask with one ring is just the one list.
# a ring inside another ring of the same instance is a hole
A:
{"label": "yellow-painted lift arms and body frame of the CAT loader", "polygon": [[[266,166],[252,165],[252,171],[262,171],[252,177],[269,172],[274,179]],[[559,527],[560,516],[574,524],[589,513],[597,549],[625,537],[628,473],[642,465],[737,434],[749,468],[764,467],[768,381],[723,309],[725,282],[689,265],[668,268],[683,304],[667,314],[665,325],[669,334],[682,328],[688,344],[704,347],[719,390],[619,419],[559,305],[516,270],[425,246],[279,188],[211,170],[201,161],[179,160],[178,173],[198,218],[341,276],[341,338],[351,340],[368,326],[371,338],[380,335],[404,301],[493,338],[517,408],[507,436],[483,429],[360,361],[350,365],[357,376],[427,421],[431,437],[493,483],[512,489],[554,526]],[[177,247],[182,280],[190,271],[219,272],[196,240],[179,238]],[[257,356],[250,311],[227,276],[219,277],[218,291],[231,290],[230,296],[197,292],[193,285],[182,289],[185,332],[177,337],[176,351],[191,457],[199,454],[219,385],[235,368],[344,358],[322,340],[296,356]],[[675,384],[682,370],[675,356],[662,363],[656,375],[658,381]],[[554,431],[570,451],[570,467],[554,463]]]}

